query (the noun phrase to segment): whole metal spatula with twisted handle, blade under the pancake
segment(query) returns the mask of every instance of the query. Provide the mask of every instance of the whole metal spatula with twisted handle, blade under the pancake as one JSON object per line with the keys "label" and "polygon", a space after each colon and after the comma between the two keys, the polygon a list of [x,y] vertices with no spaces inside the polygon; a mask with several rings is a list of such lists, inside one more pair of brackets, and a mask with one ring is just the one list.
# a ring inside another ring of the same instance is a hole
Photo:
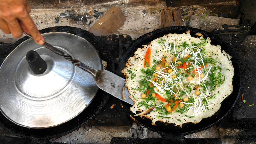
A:
{"label": "whole metal spatula with twisted handle, blade under the pancake", "polygon": [[[33,39],[33,37],[29,34],[26,34],[23,32],[26,36]],[[43,44],[46,48],[50,49],[52,52],[63,56],[66,60],[69,60],[72,62],[73,65],[81,68],[82,70],[90,73],[96,82],[96,85],[108,92],[109,94],[113,95],[116,98],[119,98],[122,101],[127,102],[128,104],[134,105],[134,101],[129,97],[130,93],[127,88],[124,88],[124,85],[126,83],[126,80],[111,73],[107,70],[95,70],[85,64],[83,64],[81,61],[77,59],[73,59],[70,55],[64,54],[61,50],[55,48],[54,46],[48,44],[45,42]]]}

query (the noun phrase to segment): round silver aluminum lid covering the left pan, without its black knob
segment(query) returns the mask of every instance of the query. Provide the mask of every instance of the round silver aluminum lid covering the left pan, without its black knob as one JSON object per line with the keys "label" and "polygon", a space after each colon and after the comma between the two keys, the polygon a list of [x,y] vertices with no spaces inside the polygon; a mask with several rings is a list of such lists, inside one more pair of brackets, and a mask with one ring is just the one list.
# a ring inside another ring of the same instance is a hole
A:
{"label": "round silver aluminum lid covering the left pan, without its black knob", "polygon": [[[97,50],[85,39],[63,32],[43,34],[45,41],[74,59],[102,69]],[[36,51],[47,70],[36,75],[26,54]],[[12,122],[27,128],[61,125],[79,115],[99,88],[93,77],[32,39],[21,43],[0,67],[0,110]]]}

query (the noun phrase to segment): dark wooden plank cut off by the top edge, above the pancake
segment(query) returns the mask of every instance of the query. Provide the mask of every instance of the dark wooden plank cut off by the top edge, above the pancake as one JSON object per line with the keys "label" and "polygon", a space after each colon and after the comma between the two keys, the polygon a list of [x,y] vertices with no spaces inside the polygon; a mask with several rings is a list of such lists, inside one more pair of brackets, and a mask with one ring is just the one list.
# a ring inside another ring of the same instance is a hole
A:
{"label": "dark wooden plank cut off by the top edge, above the pancake", "polygon": [[166,6],[168,7],[201,5],[201,4],[221,3],[221,2],[229,2],[229,1],[233,1],[233,0],[165,0]]}

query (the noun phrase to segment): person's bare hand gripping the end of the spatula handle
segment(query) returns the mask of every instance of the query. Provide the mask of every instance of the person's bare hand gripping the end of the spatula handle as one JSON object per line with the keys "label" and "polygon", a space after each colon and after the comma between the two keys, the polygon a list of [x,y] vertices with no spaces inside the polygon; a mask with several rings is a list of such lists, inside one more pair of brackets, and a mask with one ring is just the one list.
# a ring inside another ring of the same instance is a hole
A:
{"label": "person's bare hand gripping the end of the spatula handle", "polygon": [[37,44],[45,43],[30,17],[30,6],[27,0],[0,0],[0,29],[5,34],[19,38],[23,32],[30,34]]}

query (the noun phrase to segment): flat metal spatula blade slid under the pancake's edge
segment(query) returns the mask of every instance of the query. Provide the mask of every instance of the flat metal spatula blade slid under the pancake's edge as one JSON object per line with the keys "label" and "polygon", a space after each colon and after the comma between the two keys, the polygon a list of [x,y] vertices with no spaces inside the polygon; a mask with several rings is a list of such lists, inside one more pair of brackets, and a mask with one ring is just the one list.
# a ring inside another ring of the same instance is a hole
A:
{"label": "flat metal spatula blade slid under the pancake's edge", "polygon": [[[123,90],[126,80],[111,73],[107,70],[98,70],[95,76],[97,86],[113,95],[114,97],[134,105],[134,101],[129,97],[130,93],[127,88]],[[123,98],[124,96],[124,98]]]}

